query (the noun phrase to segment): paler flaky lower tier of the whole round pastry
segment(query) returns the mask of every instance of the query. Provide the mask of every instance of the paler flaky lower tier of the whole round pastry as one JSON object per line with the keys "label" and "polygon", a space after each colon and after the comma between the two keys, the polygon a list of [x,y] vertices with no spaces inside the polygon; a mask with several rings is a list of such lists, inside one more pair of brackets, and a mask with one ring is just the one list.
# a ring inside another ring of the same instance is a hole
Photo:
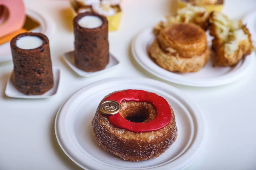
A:
{"label": "paler flaky lower tier of the whole round pastry", "polygon": [[157,39],[154,40],[149,49],[150,57],[160,67],[171,72],[196,72],[205,66],[210,56],[210,49],[207,47],[201,55],[192,58],[183,58],[179,55],[165,53],[159,46]]}

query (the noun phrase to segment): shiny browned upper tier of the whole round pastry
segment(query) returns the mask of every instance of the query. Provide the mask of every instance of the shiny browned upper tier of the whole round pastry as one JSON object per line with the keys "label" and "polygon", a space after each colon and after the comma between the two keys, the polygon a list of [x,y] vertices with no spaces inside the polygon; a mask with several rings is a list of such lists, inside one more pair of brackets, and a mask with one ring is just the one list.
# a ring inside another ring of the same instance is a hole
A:
{"label": "shiny browned upper tier of the whole round pastry", "polygon": [[207,48],[204,30],[192,23],[174,23],[161,30],[157,39],[163,51],[183,58],[201,55]]}

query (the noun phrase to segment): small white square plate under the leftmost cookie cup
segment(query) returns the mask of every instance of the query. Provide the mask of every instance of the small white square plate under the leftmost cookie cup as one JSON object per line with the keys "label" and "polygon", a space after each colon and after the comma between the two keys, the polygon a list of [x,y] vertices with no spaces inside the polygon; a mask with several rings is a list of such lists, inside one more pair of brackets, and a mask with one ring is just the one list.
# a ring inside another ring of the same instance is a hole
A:
{"label": "small white square plate under the leftmost cookie cup", "polygon": [[[11,76],[13,76],[13,72],[11,73]],[[11,81],[11,76],[9,77],[9,80],[5,89],[6,96],[13,97],[13,98],[24,98],[24,99],[43,99],[43,98],[49,98],[57,94],[59,82],[60,82],[60,69],[53,68],[54,85],[48,92],[44,93],[43,95],[25,95],[24,93],[21,93],[19,90],[17,90],[14,87]]]}

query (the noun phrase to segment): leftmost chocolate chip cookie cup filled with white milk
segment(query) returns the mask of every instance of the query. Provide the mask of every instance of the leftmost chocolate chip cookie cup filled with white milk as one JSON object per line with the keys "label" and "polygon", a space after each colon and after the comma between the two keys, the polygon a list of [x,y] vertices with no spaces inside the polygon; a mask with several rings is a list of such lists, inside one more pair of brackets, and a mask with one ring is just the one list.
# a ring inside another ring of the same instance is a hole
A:
{"label": "leftmost chocolate chip cookie cup filled with white milk", "polygon": [[41,95],[53,87],[53,70],[48,38],[41,33],[23,33],[11,42],[12,81],[26,95]]}

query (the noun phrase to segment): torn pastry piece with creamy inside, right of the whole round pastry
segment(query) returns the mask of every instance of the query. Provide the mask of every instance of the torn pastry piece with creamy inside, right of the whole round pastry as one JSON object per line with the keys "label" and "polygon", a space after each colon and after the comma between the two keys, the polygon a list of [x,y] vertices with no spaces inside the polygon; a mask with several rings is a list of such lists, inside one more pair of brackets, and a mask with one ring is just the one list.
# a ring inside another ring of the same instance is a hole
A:
{"label": "torn pastry piece with creamy inside, right of the whole round pastry", "polygon": [[214,11],[209,22],[210,34],[214,36],[212,47],[217,65],[235,65],[243,56],[252,52],[251,34],[241,21],[229,20],[221,12]]}

